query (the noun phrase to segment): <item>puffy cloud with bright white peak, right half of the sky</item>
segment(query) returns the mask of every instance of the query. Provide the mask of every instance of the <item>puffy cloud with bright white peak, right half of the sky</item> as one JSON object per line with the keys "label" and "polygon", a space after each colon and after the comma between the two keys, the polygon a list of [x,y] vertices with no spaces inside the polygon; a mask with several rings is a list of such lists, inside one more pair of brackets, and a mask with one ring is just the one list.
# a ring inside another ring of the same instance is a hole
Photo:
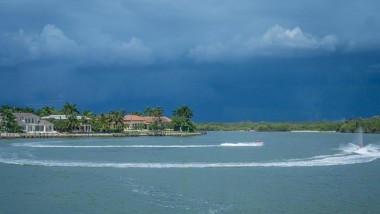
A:
{"label": "puffy cloud with bright white peak, right half of the sky", "polygon": [[318,38],[302,32],[300,27],[286,29],[275,25],[258,38],[243,39],[237,35],[226,44],[197,45],[190,49],[189,57],[196,62],[246,59],[255,56],[291,57],[297,56],[296,51],[299,51],[299,54],[334,52],[339,45],[339,39],[335,35]]}

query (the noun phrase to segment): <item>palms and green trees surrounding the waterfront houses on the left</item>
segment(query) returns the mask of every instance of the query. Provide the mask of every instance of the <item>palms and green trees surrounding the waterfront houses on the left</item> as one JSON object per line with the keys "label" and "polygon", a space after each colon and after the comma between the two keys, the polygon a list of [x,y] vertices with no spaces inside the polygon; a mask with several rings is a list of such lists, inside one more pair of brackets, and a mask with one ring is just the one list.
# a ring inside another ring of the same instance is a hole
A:
{"label": "palms and green trees surrounding the waterfront houses on the left", "polygon": [[[123,132],[125,128],[124,116],[126,111],[112,110],[109,113],[95,114],[90,110],[79,111],[76,104],[66,103],[61,109],[55,109],[51,106],[44,106],[35,110],[31,107],[11,107],[8,105],[0,106],[0,131],[2,132],[21,132],[13,113],[33,113],[40,117],[49,115],[65,115],[67,119],[48,119],[54,124],[54,129],[58,132],[71,132],[79,130],[83,124],[89,124],[94,132]],[[195,123],[191,120],[193,111],[187,105],[182,105],[172,111],[171,122],[162,120],[164,109],[160,106],[152,108],[147,106],[143,112],[131,112],[132,115],[149,116],[154,118],[153,124],[149,126],[150,130],[162,131],[172,129],[174,131],[194,132],[196,130]],[[143,127],[136,127],[143,128]]]}

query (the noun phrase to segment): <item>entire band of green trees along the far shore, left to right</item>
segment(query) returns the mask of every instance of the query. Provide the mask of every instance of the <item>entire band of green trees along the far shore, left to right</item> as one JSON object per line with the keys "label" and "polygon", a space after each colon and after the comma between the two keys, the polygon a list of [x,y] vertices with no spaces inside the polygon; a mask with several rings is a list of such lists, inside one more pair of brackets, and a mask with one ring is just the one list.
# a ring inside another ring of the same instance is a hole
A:
{"label": "entire band of green trees along the far shore, left to right", "polygon": [[[40,117],[49,115],[66,115],[66,120],[49,119],[58,132],[70,132],[78,129],[82,124],[92,126],[94,132],[123,132],[125,124],[123,117],[124,109],[111,110],[109,113],[95,114],[90,110],[79,111],[76,104],[65,103],[61,109],[44,106],[35,110],[31,107],[0,106],[0,131],[21,132],[16,118],[12,113],[26,112],[34,113]],[[133,111],[129,114],[153,117],[154,123],[149,126],[150,130],[163,131],[174,130],[178,132],[201,131],[335,131],[356,132],[362,127],[365,133],[380,133],[380,116],[371,118],[357,118],[342,121],[320,121],[320,122],[238,122],[238,123],[198,123],[191,119],[193,111],[187,105],[182,105],[172,111],[170,123],[163,120],[164,109],[160,106],[152,108],[147,106],[143,112]],[[136,127],[142,129],[143,127]]]}

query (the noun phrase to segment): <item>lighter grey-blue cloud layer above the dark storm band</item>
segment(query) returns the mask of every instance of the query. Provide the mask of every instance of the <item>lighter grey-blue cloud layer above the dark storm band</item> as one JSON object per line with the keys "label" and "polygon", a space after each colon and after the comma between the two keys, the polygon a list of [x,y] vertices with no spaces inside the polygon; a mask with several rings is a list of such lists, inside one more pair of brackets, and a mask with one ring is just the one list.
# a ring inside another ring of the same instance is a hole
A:
{"label": "lighter grey-blue cloud layer above the dark storm band", "polygon": [[0,4],[3,66],[46,58],[90,64],[215,62],[380,48],[375,11],[380,5],[371,0]]}

